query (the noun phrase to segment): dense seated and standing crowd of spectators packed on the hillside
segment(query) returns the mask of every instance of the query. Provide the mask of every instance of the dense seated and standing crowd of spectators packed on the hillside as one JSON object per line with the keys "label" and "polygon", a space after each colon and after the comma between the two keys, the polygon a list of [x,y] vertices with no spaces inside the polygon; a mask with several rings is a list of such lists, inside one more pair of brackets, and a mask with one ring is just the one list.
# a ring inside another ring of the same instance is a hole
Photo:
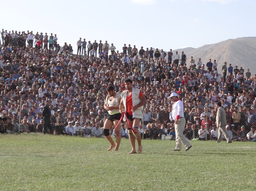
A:
{"label": "dense seated and standing crowd of spectators packed on the hillside", "polygon": [[[1,37],[2,133],[16,133],[19,128],[20,132],[42,132],[42,108],[50,100],[55,134],[101,137],[107,116],[106,87],[112,85],[121,93],[124,80],[130,78],[147,98],[140,125],[146,139],[162,135],[175,139],[168,96],[176,92],[184,103],[188,139],[216,139],[215,103],[221,101],[233,140],[256,140],[256,75],[247,68],[211,59],[196,61],[171,49],[166,54],[124,44],[116,50],[113,43],[85,38],[79,38],[76,52],[71,44],[59,45],[53,33],[3,29]],[[121,135],[128,137],[125,123]]]}

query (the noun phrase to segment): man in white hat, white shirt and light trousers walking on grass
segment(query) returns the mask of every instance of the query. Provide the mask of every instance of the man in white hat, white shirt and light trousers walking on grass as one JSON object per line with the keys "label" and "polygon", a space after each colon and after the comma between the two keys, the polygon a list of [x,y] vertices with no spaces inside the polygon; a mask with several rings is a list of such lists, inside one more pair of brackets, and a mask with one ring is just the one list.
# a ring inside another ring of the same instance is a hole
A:
{"label": "man in white hat, white shirt and light trousers walking on grass", "polygon": [[176,93],[172,93],[170,97],[173,100],[172,106],[172,118],[175,119],[175,134],[176,134],[176,147],[173,151],[180,151],[182,144],[185,145],[185,151],[188,151],[192,145],[189,140],[183,135],[183,131],[185,128],[186,120],[184,118],[184,108],[183,102],[178,99],[178,95]]}

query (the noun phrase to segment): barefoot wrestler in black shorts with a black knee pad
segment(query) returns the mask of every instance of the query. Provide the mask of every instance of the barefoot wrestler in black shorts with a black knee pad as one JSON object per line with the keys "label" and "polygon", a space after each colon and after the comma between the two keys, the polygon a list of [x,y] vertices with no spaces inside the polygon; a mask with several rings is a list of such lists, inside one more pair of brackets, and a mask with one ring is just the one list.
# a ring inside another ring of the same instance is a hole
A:
{"label": "barefoot wrestler in black shorts with a black knee pad", "polygon": [[[108,151],[113,149],[115,147],[114,151],[118,151],[120,142],[121,142],[121,134],[120,134],[120,128],[121,124],[119,122],[122,114],[119,113],[119,104],[121,101],[121,95],[116,93],[113,86],[107,87],[108,96],[106,97],[106,101],[104,103],[104,108],[108,111],[107,119],[104,123],[103,127],[103,133],[110,142],[111,146],[109,147]],[[118,126],[117,126],[118,124]],[[116,144],[114,143],[111,135],[109,134],[109,129],[114,125],[114,127],[117,126],[115,129],[116,133]]]}

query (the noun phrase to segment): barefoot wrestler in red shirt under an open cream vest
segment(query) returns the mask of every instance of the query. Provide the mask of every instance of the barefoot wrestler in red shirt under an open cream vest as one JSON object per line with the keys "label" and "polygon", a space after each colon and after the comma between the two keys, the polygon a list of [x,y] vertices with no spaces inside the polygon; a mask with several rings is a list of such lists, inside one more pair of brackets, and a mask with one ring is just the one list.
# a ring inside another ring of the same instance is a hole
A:
{"label": "barefoot wrestler in red shirt under an open cream vest", "polygon": [[[124,116],[124,121],[126,120],[127,130],[129,134],[130,143],[132,146],[132,151],[129,154],[136,153],[135,139],[138,142],[138,153],[142,152],[141,136],[139,133],[139,122],[143,117],[142,106],[146,102],[146,97],[143,95],[142,91],[139,89],[132,88],[132,80],[126,79],[124,81],[126,90],[121,94],[121,102],[119,106],[120,113],[126,113],[127,118]],[[131,127],[134,129],[135,133],[132,132]]]}

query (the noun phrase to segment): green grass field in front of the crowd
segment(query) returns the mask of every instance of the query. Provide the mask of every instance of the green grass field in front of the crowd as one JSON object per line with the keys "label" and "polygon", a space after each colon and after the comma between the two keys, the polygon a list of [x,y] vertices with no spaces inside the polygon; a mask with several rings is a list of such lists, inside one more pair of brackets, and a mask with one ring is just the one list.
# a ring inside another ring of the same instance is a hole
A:
{"label": "green grass field in front of the crowd", "polygon": [[255,190],[255,142],[143,140],[143,153],[106,139],[0,135],[0,190]]}

